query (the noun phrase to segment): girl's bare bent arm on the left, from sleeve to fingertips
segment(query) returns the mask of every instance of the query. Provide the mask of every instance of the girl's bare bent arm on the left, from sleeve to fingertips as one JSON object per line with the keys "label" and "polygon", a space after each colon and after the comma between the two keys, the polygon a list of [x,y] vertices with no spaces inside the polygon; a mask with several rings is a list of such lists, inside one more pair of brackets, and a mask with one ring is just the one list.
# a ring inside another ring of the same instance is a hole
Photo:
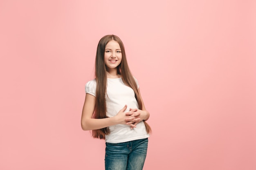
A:
{"label": "girl's bare bent arm on the left, from sleeve to fingertips", "polygon": [[[122,108],[116,116],[114,117],[108,117],[103,119],[93,119],[92,115],[94,113],[94,106],[96,102],[96,97],[93,95],[90,95],[86,93],[85,95],[85,102],[83,105],[83,112],[82,112],[82,118],[81,118],[81,126],[83,130],[96,130],[101,128],[106,128],[108,126],[113,126],[116,124],[126,124],[126,119],[129,121],[139,121],[140,118],[136,116],[139,116],[140,113],[134,113],[133,116],[127,116],[124,111],[127,108],[127,105]],[[132,111],[128,112],[132,113]],[[136,125],[129,124],[131,127],[136,128]]]}

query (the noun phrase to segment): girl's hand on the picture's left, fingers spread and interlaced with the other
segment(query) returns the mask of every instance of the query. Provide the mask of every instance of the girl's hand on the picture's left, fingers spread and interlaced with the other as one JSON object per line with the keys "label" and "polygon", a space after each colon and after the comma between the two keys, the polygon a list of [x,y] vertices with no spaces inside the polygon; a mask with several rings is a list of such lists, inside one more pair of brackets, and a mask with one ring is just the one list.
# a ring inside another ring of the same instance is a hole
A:
{"label": "girl's hand on the picture's left, fingers spread and interlaced with the other", "polygon": [[[134,124],[132,124],[132,123],[129,123],[128,124],[128,122],[133,122],[133,123],[135,123],[135,122],[137,122],[137,121],[139,121],[140,120],[140,118],[138,118],[137,116],[139,116],[139,115],[137,115],[137,114],[132,114],[132,113],[134,113],[134,112],[136,112],[137,111],[137,109],[132,109],[132,110],[130,110],[128,113],[130,113],[130,114],[127,114],[127,113],[125,113],[124,111],[126,110],[126,108],[127,108],[127,105],[125,105],[124,106],[124,108],[122,108],[118,113],[117,113],[117,115],[115,116],[115,118],[116,118],[116,121],[117,121],[117,124],[127,124],[127,125],[129,125],[129,126],[131,126],[132,128],[136,128],[136,126],[134,125]],[[139,114],[139,113],[138,113]]]}

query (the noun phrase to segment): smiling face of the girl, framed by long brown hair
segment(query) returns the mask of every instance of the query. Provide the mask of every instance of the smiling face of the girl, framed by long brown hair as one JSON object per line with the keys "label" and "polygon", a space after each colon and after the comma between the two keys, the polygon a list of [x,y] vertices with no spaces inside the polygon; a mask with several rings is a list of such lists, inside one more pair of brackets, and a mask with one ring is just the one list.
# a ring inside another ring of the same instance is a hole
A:
{"label": "smiling face of the girl, framed by long brown hair", "polygon": [[121,48],[115,40],[110,40],[105,48],[104,61],[107,71],[116,69],[121,63],[122,53]]}

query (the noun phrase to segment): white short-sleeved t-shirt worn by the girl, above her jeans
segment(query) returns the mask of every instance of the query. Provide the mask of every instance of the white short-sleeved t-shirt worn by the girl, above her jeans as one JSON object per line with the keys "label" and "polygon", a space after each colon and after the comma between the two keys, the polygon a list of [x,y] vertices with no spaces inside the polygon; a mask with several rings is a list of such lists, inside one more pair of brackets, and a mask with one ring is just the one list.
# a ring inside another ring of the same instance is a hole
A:
{"label": "white short-sleeved t-shirt worn by the girl, above her jeans", "polygon": [[[137,87],[139,84],[135,79]],[[96,97],[96,80],[91,80],[85,85],[85,92]],[[138,103],[135,98],[135,93],[132,88],[126,86],[122,81],[122,78],[109,79],[107,81],[107,94],[105,95],[106,108],[108,117],[114,117],[119,110],[124,108],[127,104],[128,112],[130,108],[138,108]],[[121,143],[127,141],[133,141],[137,139],[145,139],[149,137],[146,132],[146,127],[143,121],[136,125],[136,128],[130,128],[128,125],[117,124],[109,126],[110,134],[106,135],[105,141],[108,143]]]}

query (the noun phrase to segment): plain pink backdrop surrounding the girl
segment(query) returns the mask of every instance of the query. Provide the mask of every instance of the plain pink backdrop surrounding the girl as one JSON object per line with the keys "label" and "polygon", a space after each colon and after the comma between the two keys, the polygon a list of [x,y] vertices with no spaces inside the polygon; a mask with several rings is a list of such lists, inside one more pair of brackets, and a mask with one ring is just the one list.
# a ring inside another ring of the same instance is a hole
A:
{"label": "plain pink backdrop surrounding the girl", "polygon": [[123,40],[144,170],[256,169],[256,1],[1,0],[0,169],[102,170],[80,126],[99,39]]}

